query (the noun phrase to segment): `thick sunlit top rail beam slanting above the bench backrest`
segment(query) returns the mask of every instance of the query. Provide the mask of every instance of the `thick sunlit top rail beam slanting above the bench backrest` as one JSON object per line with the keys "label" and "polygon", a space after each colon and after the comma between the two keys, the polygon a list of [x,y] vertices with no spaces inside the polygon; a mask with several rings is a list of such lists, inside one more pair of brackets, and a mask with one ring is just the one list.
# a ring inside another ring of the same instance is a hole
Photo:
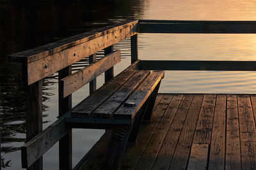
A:
{"label": "thick sunlit top rail beam slanting above the bench backrest", "polygon": [[27,85],[70,66],[108,46],[138,33],[138,20],[121,22],[111,27],[79,34],[56,43],[40,46],[8,57],[9,61],[26,66],[23,78]]}

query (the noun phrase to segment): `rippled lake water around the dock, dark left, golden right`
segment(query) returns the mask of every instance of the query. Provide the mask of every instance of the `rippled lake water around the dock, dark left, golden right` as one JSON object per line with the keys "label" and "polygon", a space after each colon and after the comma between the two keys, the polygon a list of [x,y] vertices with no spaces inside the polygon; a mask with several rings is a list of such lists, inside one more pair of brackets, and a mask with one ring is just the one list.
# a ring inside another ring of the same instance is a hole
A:
{"label": "rippled lake water around the dock, dark left, golden right", "polygon": [[[0,3],[1,4],[1,3]],[[0,6],[1,155],[6,169],[21,169],[19,147],[26,138],[24,87],[19,64],[6,55],[127,18],[159,20],[256,20],[255,1],[93,1],[90,3],[3,4]],[[253,34],[140,34],[140,59],[255,60]],[[129,39],[115,45],[122,62],[115,74],[129,66]],[[86,64],[86,62],[85,62]],[[73,67],[83,67],[80,62]],[[58,74],[44,80],[44,129],[58,115]],[[97,79],[100,87],[103,76]],[[159,92],[255,93],[256,74],[228,71],[166,71]],[[75,92],[72,106],[88,96],[88,85]],[[90,150],[104,131],[73,129],[73,164]],[[44,155],[44,169],[58,169],[58,143]]]}

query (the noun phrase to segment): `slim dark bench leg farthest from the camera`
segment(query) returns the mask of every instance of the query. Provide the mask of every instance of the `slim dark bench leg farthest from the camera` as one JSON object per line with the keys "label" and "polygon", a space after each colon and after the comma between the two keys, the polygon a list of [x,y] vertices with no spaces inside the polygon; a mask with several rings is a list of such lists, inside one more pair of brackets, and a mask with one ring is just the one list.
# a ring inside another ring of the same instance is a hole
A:
{"label": "slim dark bench leg farthest from the camera", "polygon": [[150,118],[151,118],[151,115],[152,115],[154,104],[156,102],[156,96],[157,96],[160,84],[161,84],[161,81],[159,81],[158,85],[156,86],[156,88],[152,92],[151,96],[149,97],[148,107],[147,107],[145,116],[143,118],[143,122],[150,122]]}

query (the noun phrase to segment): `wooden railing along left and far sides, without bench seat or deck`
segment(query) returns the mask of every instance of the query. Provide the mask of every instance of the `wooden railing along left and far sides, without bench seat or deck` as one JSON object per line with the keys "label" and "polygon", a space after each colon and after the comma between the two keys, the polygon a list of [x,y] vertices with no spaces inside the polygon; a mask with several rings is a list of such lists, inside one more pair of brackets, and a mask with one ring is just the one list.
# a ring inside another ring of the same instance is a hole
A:
{"label": "wooden railing along left and far sides, without bench seat or deck", "polygon": [[[140,69],[256,71],[255,61],[138,61],[140,32],[256,33],[256,22],[129,20],[10,55],[9,61],[22,63],[22,78],[27,86],[27,143],[22,147],[22,167],[42,169],[42,155],[60,141],[60,169],[72,169],[72,133],[65,124],[65,117],[70,117],[72,109],[71,94],[88,82],[92,94],[96,89],[96,78],[103,72],[105,81],[113,78],[113,66],[120,62],[120,51],[113,52],[113,45],[125,38],[131,37],[131,63],[138,62]],[[102,49],[105,57],[96,62],[95,53]],[[91,65],[72,74],[71,65],[84,57],[89,57]],[[42,131],[42,79],[55,72],[58,72],[59,79],[60,118],[43,134],[37,135]],[[33,142],[35,136],[40,140]]]}

